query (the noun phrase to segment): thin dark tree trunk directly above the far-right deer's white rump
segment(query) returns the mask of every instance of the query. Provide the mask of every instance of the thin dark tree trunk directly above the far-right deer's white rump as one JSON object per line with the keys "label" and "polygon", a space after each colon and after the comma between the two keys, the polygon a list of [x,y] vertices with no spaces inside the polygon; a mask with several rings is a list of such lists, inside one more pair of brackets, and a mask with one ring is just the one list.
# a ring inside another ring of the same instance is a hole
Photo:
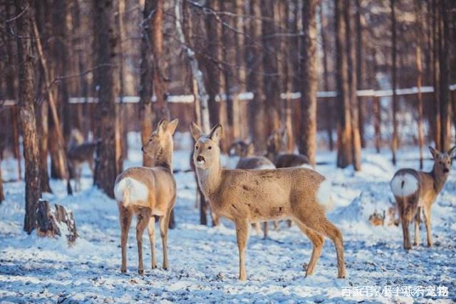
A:
{"label": "thin dark tree trunk directly above the far-right deer's white rump", "polygon": [[393,154],[393,164],[396,164],[396,150],[398,150],[398,98],[396,96],[397,78],[396,78],[396,16],[395,16],[395,0],[390,0],[391,9],[391,58],[392,58],[392,74],[391,86],[393,88],[393,139],[391,141],[391,152]]}

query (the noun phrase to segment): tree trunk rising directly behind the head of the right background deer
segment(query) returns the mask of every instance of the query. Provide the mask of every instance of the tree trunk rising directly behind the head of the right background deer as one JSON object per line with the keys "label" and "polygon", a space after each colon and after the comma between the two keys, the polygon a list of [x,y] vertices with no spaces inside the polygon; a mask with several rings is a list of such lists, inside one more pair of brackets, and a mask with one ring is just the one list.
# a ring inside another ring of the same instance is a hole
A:
{"label": "tree trunk rising directly behind the head of the right background deer", "polygon": [[279,38],[276,38],[276,19],[275,7],[279,1],[261,1],[261,33],[263,43],[263,88],[266,105],[267,119],[263,122],[263,127],[267,127],[268,134],[281,127],[281,85],[279,83],[279,68],[277,60],[277,50],[279,50]]}

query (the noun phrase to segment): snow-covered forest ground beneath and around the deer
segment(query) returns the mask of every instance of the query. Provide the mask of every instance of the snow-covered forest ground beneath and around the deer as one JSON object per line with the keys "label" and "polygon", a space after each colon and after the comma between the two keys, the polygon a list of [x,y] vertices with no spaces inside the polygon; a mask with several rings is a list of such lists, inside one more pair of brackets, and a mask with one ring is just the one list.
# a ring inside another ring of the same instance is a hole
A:
{"label": "snow-covered forest ground beneath and around the deer", "polygon": [[[189,142],[184,135],[177,135],[176,140],[180,147]],[[138,142],[131,138],[136,147]],[[333,182],[335,208],[328,217],[343,231],[348,271],[348,278],[343,280],[336,279],[336,252],[329,240],[316,273],[305,278],[303,264],[309,261],[311,243],[296,226],[288,228],[281,223],[279,231],[270,229],[266,240],[252,231],[247,248],[248,281],[239,282],[233,225],[229,221],[218,227],[199,225],[192,172],[175,174],[177,228],[169,234],[170,270],[150,268],[145,233],[145,276],[137,273],[135,222],[128,240],[128,274],[120,273],[118,209],[115,201],[91,186],[88,168],[84,171],[83,191],[66,196],[66,184],[53,180],[54,194],[45,195],[51,203],[74,211],[80,238],[71,248],[63,238],[41,239],[22,231],[24,182],[7,182],[6,201],[0,205],[0,303],[453,303],[456,169],[432,207],[435,246],[422,245],[405,253],[400,227],[372,226],[368,221],[374,211],[383,214],[394,206],[388,182],[397,168],[389,158],[387,150],[382,154],[365,150],[362,172],[353,172],[351,168],[336,169],[334,153],[318,153],[318,162],[327,164],[317,170]],[[140,159],[138,149],[130,150],[125,167],[140,164]],[[416,149],[400,151],[398,159],[398,167],[418,167]],[[229,166],[236,162],[224,161]],[[189,152],[176,151],[174,163],[175,169],[187,169]],[[14,160],[2,163],[4,179],[15,178],[14,166]],[[427,160],[426,169],[431,166]],[[424,244],[424,226],[421,228]],[[160,266],[158,233],[156,239]],[[435,295],[417,297],[414,292],[418,286],[431,290],[435,286]],[[448,288],[448,295],[438,286]],[[369,296],[373,288],[381,288],[384,296]],[[413,297],[404,295],[406,288],[412,288]],[[388,290],[391,295],[385,293]],[[361,295],[357,296],[359,292]]]}

